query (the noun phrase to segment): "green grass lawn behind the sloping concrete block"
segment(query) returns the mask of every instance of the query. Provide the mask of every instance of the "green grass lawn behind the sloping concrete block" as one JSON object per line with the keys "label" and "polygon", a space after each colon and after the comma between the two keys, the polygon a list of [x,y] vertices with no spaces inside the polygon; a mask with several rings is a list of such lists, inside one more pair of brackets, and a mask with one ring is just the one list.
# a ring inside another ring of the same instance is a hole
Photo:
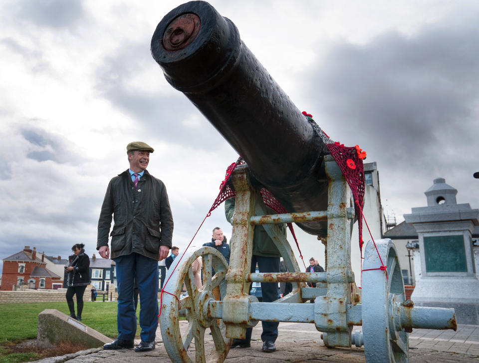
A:
{"label": "green grass lawn behind the sloping concrete block", "polygon": [[[56,309],[66,315],[70,315],[66,301],[54,303],[0,304],[0,352],[1,346],[27,339],[36,339],[38,314],[45,309]],[[140,309],[138,309],[137,312],[137,321],[139,310]],[[85,302],[83,313],[81,314],[81,322],[107,337],[116,338],[118,336],[116,313],[116,302]],[[137,326],[136,339],[140,338],[140,331],[140,327]]]}

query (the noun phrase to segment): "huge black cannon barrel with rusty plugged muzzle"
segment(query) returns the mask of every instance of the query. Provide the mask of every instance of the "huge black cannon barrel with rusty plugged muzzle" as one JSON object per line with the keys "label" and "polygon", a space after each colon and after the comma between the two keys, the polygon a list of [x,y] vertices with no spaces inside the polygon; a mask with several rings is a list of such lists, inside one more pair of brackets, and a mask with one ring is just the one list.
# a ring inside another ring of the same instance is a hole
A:
{"label": "huge black cannon barrel with rusty plugged muzzle", "polygon": [[[288,212],[327,209],[327,149],[252,52],[235,24],[205,1],[182,4],[158,24],[151,52]],[[327,222],[298,224],[324,236]]]}

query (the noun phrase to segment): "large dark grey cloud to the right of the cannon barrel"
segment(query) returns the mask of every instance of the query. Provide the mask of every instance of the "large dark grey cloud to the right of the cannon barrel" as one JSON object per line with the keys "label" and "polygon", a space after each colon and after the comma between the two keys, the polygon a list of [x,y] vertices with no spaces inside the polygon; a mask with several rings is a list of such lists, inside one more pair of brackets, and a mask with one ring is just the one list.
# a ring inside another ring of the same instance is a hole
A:
{"label": "large dark grey cloud to the right of the cannon barrel", "polygon": [[433,160],[448,163],[439,154],[470,147],[479,134],[479,19],[469,20],[334,46],[310,76],[320,126],[378,160],[396,154],[396,164],[430,171]]}

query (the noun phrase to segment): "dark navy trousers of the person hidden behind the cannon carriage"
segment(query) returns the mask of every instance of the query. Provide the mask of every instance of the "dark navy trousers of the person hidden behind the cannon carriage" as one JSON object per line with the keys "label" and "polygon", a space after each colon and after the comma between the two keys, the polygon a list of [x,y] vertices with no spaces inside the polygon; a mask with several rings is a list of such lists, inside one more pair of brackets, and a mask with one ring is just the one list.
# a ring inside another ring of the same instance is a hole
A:
{"label": "dark navy trousers of the person hidden behind the cannon carriage", "polygon": [[[259,272],[279,272],[279,257],[263,257],[253,255],[251,257],[251,272],[256,271],[256,263],[258,264]],[[251,285],[249,285],[249,291],[251,291]],[[261,294],[263,296],[263,302],[272,303],[279,298],[278,284],[272,282],[261,283]],[[263,332],[261,333],[261,340],[275,342],[278,338],[278,322],[261,322]],[[246,340],[251,340],[251,333],[253,328],[246,329]]]}

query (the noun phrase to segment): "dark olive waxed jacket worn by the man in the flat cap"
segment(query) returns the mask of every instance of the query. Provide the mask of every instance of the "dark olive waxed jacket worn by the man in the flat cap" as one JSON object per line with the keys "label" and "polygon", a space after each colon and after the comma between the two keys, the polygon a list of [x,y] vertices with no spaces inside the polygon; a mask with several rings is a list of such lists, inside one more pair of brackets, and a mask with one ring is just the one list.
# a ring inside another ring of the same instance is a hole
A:
{"label": "dark olive waxed jacket worn by the man in the flat cap", "polygon": [[111,179],[98,220],[96,249],[108,246],[111,231],[111,259],[138,253],[158,260],[160,246],[171,248],[173,217],[163,182],[148,173],[135,189],[128,170]]}

